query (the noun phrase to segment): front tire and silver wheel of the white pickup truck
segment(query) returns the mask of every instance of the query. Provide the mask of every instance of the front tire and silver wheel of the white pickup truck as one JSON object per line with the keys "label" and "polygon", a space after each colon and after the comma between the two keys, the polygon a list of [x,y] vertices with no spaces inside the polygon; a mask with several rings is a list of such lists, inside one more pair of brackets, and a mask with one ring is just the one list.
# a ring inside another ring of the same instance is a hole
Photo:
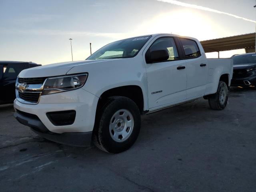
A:
{"label": "front tire and silver wheel of the white pickup truck", "polygon": [[94,128],[94,144],[108,153],[123,152],[138,138],[140,123],[140,110],[133,100],[112,97],[99,112]]}

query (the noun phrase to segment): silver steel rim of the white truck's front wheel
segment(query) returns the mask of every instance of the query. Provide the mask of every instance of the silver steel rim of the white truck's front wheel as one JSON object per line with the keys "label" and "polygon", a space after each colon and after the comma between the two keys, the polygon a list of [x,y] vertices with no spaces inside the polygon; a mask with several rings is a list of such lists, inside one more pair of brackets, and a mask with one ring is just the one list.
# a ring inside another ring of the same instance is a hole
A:
{"label": "silver steel rim of the white truck's front wheel", "polygon": [[118,110],[110,120],[110,136],[116,142],[123,142],[132,134],[133,127],[134,118],[131,112],[126,109]]}

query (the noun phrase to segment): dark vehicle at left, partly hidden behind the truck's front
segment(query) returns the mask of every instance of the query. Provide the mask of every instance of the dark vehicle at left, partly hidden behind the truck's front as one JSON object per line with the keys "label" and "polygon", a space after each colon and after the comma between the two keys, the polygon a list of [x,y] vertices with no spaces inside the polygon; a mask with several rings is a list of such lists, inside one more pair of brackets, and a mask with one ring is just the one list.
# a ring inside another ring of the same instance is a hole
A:
{"label": "dark vehicle at left, partly hidden behind the truck's front", "polygon": [[27,68],[41,66],[32,62],[0,61],[0,104],[13,103],[18,74]]}

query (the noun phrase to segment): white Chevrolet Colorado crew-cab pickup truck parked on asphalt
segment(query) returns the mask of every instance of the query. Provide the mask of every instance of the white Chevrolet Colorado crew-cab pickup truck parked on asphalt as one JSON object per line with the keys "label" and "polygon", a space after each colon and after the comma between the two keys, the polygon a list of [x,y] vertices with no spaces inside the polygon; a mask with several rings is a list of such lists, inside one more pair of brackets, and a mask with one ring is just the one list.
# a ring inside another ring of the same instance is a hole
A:
{"label": "white Chevrolet Colorado crew-cab pickup truck parked on asphalt", "polygon": [[128,38],[86,60],[20,72],[14,116],[48,140],[119,153],[136,141],[141,114],[202,97],[224,109],[232,72],[232,59],[206,59],[194,38]]}

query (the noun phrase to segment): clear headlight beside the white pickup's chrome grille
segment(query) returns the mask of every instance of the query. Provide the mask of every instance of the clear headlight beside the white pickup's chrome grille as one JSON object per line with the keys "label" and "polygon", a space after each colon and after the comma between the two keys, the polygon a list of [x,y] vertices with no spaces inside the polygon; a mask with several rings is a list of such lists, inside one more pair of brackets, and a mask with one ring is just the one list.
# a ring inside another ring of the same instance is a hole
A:
{"label": "clear headlight beside the white pickup's chrome grille", "polygon": [[85,84],[87,77],[88,74],[85,73],[47,78],[44,84],[44,90],[42,92],[42,95],[48,95],[81,88]]}

